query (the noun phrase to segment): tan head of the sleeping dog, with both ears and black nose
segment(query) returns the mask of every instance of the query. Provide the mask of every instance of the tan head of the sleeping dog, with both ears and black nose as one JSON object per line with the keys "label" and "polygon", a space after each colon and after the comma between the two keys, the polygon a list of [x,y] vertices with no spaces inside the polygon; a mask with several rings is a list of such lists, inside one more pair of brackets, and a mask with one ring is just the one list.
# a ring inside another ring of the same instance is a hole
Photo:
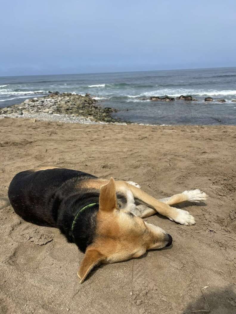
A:
{"label": "tan head of the sleeping dog, with both ears and black nose", "polygon": [[96,235],[93,244],[87,247],[79,268],[80,282],[94,266],[139,257],[147,250],[160,249],[171,242],[171,236],[161,228],[119,209],[115,181],[111,178],[100,188]]}

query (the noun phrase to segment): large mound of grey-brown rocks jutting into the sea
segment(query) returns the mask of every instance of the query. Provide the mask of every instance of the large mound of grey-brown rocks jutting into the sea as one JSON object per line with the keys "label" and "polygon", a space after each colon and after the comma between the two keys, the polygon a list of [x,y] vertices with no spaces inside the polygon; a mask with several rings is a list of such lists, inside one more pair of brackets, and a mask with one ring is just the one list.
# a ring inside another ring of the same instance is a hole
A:
{"label": "large mound of grey-brown rocks jutting into the sea", "polygon": [[82,96],[55,92],[46,97],[26,99],[21,104],[0,108],[0,115],[11,113],[18,115],[25,113],[67,114],[87,117],[94,121],[117,122],[111,117],[111,113],[115,112],[115,109],[102,108],[96,103],[97,100],[89,94]]}

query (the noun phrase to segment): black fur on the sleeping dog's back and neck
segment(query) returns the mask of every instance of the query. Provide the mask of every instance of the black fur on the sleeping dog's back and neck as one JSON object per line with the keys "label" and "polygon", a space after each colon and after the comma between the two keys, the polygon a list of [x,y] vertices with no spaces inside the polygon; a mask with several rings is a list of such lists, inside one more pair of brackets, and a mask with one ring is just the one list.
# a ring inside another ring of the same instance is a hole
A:
{"label": "black fur on the sleeping dog's back and neck", "polygon": [[[86,180],[98,179],[85,172],[65,168],[27,170],[12,179],[8,198],[16,214],[37,225],[59,228],[69,242],[75,242],[82,252],[96,236],[100,190],[87,188]],[[117,199],[126,203],[121,193]],[[73,229],[72,223],[79,214]]]}

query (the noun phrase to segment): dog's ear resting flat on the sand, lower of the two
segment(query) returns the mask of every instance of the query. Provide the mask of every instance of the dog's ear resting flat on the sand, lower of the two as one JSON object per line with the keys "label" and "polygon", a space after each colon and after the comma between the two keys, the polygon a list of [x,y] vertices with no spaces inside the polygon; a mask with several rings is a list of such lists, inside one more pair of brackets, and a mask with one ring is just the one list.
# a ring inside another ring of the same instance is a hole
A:
{"label": "dog's ear resting flat on the sand, lower of the two", "polygon": [[80,265],[79,271],[77,273],[78,277],[81,279],[80,284],[84,282],[84,279],[91,272],[93,267],[100,265],[103,261],[105,261],[105,259],[106,257],[98,252],[97,249],[87,249]]}

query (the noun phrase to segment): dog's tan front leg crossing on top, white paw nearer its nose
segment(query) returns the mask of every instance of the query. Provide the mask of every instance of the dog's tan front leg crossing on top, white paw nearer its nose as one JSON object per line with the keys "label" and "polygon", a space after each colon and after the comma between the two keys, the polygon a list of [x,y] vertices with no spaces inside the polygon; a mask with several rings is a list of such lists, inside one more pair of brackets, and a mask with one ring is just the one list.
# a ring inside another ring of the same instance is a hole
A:
{"label": "dog's tan front leg crossing on top, white paw nearer its nose", "polygon": [[150,196],[148,193],[125,181],[116,181],[115,184],[117,191],[123,191],[125,188],[128,188],[133,193],[134,198],[138,198],[141,202],[147,204],[147,206],[150,206],[141,213],[141,218],[149,217],[158,212],[161,215],[166,216],[170,220],[174,220],[181,225],[189,226],[195,224],[194,217],[190,215],[186,210],[174,208],[166,203],[160,202],[154,197]]}

